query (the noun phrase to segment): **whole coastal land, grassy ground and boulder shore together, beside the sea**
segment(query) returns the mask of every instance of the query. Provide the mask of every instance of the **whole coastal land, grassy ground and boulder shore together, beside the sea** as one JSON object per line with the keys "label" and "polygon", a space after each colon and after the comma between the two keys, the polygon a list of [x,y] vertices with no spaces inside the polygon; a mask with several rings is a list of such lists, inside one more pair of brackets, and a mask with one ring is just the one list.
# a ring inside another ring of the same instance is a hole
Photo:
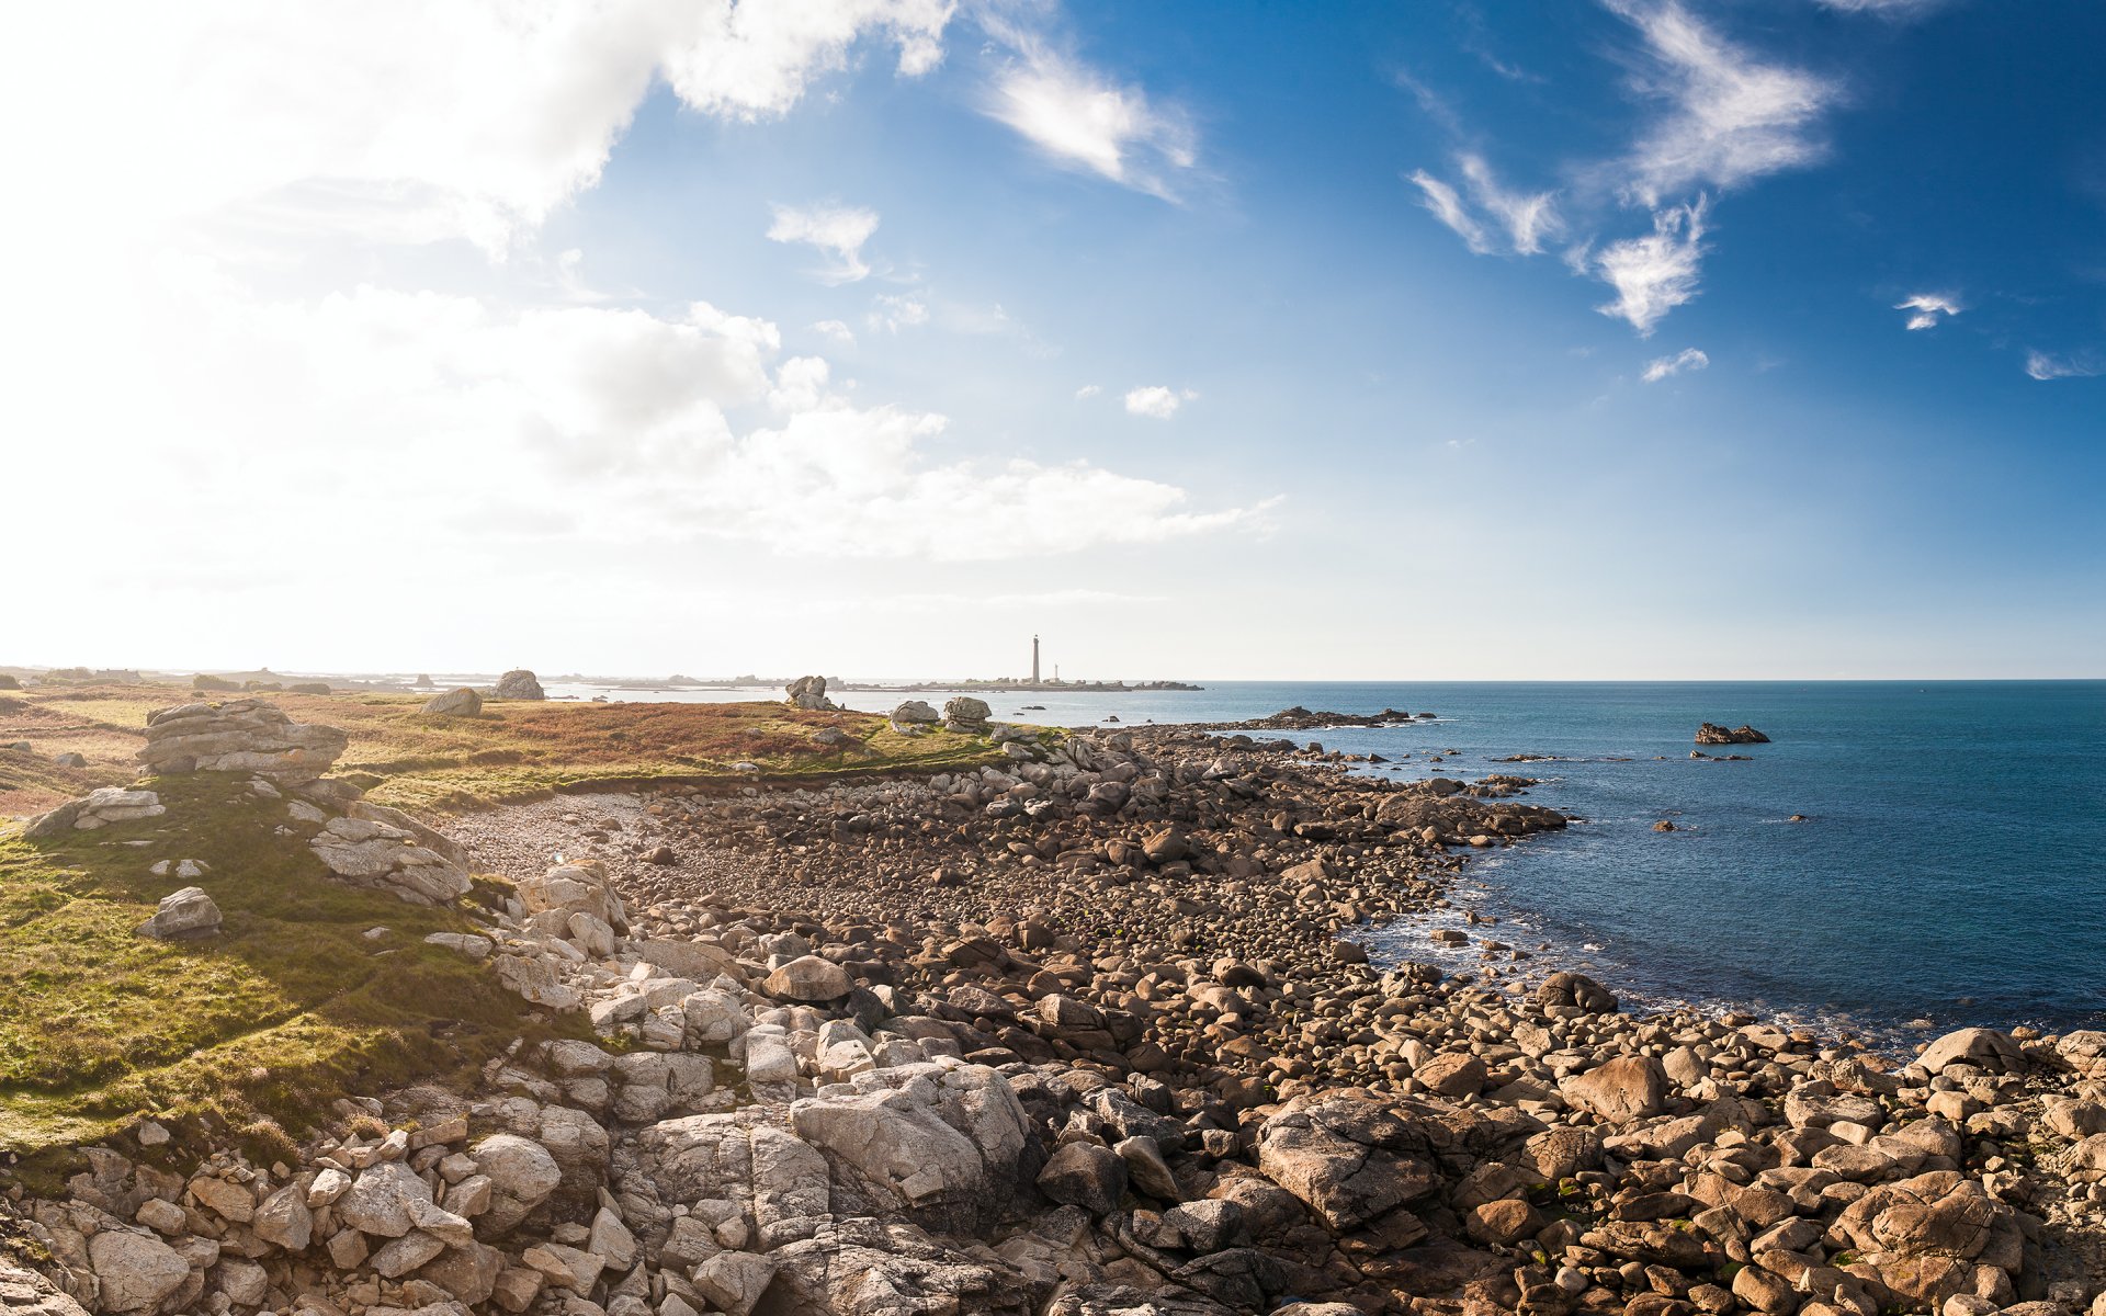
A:
{"label": "whole coastal land, grassy ground and boulder shore together, beside the sea", "polygon": [[1529,777],[455,695],[0,695],[8,1312],[2068,1316],[2106,1280],[2102,1034],[1636,1015],[1495,924],[1443,933],[1466,975],[1369,964],[1565,828]]}

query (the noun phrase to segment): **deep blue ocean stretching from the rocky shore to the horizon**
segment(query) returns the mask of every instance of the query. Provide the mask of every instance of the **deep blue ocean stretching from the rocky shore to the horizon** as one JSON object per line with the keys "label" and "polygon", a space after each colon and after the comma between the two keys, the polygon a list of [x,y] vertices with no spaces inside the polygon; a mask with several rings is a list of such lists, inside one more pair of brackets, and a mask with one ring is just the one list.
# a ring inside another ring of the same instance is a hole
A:
{"label": "deep blue ocean stretching from the rocky shore to the horizon", "polygon": [[[899,699],[842,695],[863,710]],[[1474,910],[1502,941],[1548,948],[1542,960],[1636,1002],[1754,1009],[1864,1036],[2106,1025],[2100,680],[1209,682],[990,703],[996,718],[1066,726],[1110,714],[1232,722],[1289,705],[1434,712],[1411,726],[1291,735],[1382,754],[1394,762],[1365,771],[1396,777],[1537,777],[1531,802],[1584,819],[1478,855],[1457,910],[1375,931],[1377,958],[1470,969],[1476,952],[1443,954],[1428,933]],[[1771,743],[1706,747],[1746,762],[1691,760],[1700,722],[1750,722]],[[1502,762],[1514,754],[1554,760]],[[1655,832],[1662,819],[1676,830]]]}

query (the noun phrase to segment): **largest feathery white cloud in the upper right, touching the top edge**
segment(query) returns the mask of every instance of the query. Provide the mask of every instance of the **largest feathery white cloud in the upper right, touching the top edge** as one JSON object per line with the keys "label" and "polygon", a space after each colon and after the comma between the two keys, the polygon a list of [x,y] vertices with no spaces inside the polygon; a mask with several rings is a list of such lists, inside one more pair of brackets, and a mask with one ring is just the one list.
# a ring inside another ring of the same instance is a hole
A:
{"label": "largest feathery white cloud in the upper right, touching the top edge", "polygon": [[1678,0],[1607,0],[1645,38],[1634,86],[1666,105],[1620,164],[1647,206],[1689,187],[1735,187],[1811,164],[1826,145],[1822,114],[1839,88],[1805,69],[1765,63],[1725,40]]}

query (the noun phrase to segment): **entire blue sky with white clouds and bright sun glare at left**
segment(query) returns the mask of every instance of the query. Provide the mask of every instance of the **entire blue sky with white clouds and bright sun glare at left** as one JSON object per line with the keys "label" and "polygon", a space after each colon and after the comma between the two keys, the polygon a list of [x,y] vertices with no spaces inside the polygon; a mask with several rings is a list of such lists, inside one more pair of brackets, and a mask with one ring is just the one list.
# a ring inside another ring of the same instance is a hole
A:
{"label": "entire blue sky with white clouds and bright sun glare at left", "polygon": [[0,661],[2102,676],[2098,0],[8,17]]}

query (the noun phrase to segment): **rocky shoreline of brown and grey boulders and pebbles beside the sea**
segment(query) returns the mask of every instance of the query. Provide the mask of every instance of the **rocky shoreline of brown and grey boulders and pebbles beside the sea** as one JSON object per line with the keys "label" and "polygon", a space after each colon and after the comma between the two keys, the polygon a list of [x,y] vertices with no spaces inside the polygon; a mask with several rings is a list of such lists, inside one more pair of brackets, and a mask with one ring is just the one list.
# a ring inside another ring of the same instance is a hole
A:
{"label": "rocky shoreline of brown and grey boulders and pebbles beside the sea", "polygon": [[1527,779],[1007,750],[461,819],[518,886],[459,952],[598,1044],[347,1095],[297,1162],[141,1122],[0,1234],[171,1316],[2070,1316],[2106,1280],[2102,1034],[1632,1017],[1497,929],[1497,977],[1379,973],[1356,931],[1565,825]]}

